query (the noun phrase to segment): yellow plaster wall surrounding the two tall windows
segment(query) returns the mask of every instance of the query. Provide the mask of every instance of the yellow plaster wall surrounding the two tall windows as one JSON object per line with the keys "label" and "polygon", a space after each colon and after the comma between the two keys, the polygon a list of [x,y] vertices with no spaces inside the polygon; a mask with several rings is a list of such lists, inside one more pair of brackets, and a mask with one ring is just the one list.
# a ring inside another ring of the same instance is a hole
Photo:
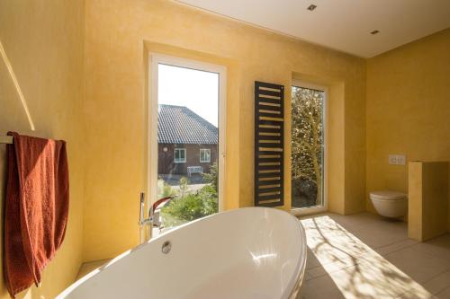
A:
{"label": "yellow plaster wall surrounding the two tall windows", "polygon": [[[330,137],[330,208],[365,207],[365,60],[162,0],[88,0],[85,7],[84,259],[110,258],[137,244],[145,187],[147,52],[229,67],[227,208],[253,205],[254,81],[291,85],[317,78],[338,110]],[[166,46],[165,46],[166,45]],[[290,88],[286,88],[286,111]],[[333,96],[334,95],[334,96]],[[286,136],[290,136],[286,117]],[[286,138],[289,144],[289,137]],[[289,166],[289,149],[286,166]],[[350,159],[351,158],[351,162]],[[285,168],[289,178],[289,167]],[[291,206],[286,179],[285,209]]]}

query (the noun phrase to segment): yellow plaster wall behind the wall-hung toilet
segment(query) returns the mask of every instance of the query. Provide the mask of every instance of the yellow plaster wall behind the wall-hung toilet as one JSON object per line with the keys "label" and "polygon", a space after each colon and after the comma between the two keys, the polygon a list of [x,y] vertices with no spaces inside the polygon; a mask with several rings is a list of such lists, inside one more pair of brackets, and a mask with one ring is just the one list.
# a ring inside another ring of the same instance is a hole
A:
{"label": "yellow plaster wall behind the wall-hung toilet", "polygon": [[449,49],[447,29],[368,60],[365,198],[370,211],[371,190],[408,192],[408,165],[389,165],[388,154],[450,161]]}

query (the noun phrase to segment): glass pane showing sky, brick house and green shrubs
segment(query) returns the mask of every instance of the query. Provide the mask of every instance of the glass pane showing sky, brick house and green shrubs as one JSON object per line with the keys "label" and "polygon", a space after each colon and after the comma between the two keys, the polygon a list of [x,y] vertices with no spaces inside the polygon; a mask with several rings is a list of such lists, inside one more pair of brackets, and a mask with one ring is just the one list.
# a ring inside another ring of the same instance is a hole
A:
{"label": "glass pane showing sky, brick house and green shrubs", "polygon": [[157,67],[157,209],[153,233],[218,212],[219,74]]}

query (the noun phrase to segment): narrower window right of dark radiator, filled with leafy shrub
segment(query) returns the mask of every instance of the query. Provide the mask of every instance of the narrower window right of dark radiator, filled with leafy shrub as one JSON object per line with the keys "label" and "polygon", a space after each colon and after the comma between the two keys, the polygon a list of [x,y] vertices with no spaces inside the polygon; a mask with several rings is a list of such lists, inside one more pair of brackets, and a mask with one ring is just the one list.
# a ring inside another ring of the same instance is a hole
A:
{"label": "narrower window right of dark radiator, filled with leafy shrub", "polygon": [[326,209],[325,99],[320,87],[292,88],[292,207],[300,213]]}

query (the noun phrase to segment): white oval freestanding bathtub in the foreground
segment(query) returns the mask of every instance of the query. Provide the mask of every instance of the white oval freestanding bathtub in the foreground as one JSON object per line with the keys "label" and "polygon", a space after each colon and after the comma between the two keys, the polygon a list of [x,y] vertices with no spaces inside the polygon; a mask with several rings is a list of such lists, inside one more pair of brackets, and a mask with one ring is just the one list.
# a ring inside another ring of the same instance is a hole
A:
{"label": "white oval freestanding bathtub in the foreground", "polygon": [[275,208],[246,207],[141,244],[57,298],[293,299],[305,265],[305,233],[295,217]]}

